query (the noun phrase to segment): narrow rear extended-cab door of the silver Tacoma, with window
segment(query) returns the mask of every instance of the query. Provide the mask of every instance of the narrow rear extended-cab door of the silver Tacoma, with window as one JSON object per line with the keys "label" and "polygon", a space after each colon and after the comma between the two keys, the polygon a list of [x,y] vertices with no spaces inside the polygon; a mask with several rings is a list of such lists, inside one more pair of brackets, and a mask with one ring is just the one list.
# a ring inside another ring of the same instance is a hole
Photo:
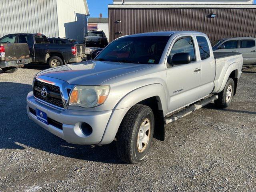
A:
{"label": "narrow rear extended-cab door of the silver Tacoma, with window", "polygon": [[197,41],[198,62],[201,68],[200,97],[209,95],[214,88],[216,64],[210,40],[206,35],[195,35]]}

